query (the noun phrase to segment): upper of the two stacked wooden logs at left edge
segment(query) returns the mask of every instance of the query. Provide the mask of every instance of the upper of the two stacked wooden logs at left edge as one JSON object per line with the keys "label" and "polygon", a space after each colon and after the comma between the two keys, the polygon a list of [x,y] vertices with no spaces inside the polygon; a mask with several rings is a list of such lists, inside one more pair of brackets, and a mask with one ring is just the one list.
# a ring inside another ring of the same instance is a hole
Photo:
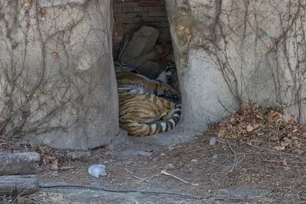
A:
{"label": "upper of the two stacked wooden logs at left edge", "polygon": [[0,175],[35,174],[37,152],[0,152]]}

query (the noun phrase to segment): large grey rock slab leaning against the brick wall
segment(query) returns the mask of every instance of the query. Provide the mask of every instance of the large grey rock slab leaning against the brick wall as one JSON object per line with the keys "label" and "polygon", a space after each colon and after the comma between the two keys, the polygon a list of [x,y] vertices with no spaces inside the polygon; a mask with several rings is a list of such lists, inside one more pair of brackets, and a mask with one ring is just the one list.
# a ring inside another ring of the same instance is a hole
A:
{"label": "large grey rock slab leaning against the brick wall", "polygon": [[144,54],[149,54],[152,52],[158,37],[159,30],[157,28],[142,26],[140,30],[133,34],[119,61],[129,64],[129,61],[137,59]]}

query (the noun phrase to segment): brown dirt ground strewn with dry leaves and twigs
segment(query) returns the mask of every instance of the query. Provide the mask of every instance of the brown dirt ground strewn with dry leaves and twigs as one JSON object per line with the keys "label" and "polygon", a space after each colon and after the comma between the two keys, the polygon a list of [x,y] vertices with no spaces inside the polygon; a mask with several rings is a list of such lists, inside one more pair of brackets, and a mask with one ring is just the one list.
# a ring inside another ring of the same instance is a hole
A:
{"label": "brown dirt ground strewn with dry leaves and twigs", "polygon": [[[274,114],[245,109],[191,143],[129,157],[102,147],[71,160],[40,147],[39,184],[53,187],[18,203],[306,203],[305,126]],[[106,176],[90,176],[100,163]]]}

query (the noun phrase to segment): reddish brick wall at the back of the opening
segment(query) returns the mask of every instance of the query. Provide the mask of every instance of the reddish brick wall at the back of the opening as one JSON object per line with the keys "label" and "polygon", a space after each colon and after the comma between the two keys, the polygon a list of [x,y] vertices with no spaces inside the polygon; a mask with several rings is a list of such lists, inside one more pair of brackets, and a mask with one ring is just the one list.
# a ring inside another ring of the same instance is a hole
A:
{"label": "reddish brick wall at the back of the opening", "polygon": [[113,53],[118,56],[124,35],[129,37],[142,25],[159,29],[159,41],[171,43],[164,0],[114,0]]}

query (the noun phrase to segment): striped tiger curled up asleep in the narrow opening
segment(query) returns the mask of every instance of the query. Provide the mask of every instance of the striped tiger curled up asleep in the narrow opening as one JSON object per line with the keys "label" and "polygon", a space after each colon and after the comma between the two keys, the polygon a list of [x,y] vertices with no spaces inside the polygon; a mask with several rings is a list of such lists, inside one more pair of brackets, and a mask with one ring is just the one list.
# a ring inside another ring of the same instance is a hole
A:
{"label": "striped tiger curled up asleep in the narrow opening", "polygon": [[180,118],[180,94],[166,84],[167,68],[156,80],[131,71],[117,71],[119,124],[131,136],[151,136],[171,130]]}

